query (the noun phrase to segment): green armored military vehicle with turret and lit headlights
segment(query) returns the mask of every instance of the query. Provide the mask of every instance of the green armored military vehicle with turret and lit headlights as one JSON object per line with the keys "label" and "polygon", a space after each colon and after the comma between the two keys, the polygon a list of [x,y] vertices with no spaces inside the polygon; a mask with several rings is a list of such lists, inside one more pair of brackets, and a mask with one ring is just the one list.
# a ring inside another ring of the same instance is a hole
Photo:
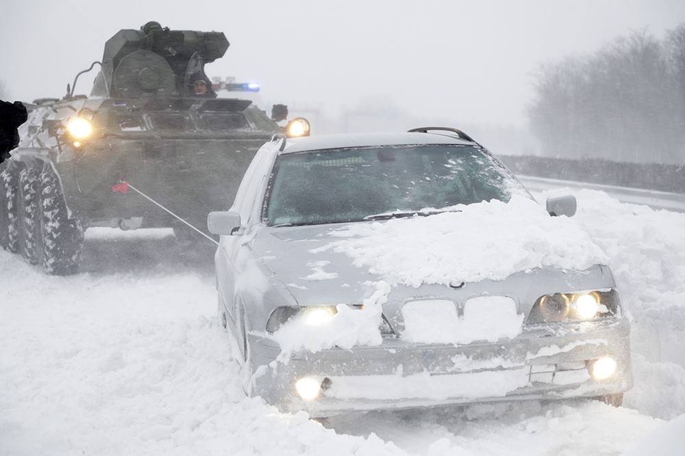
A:
{"label": "green armored military vehicle with turret and lit headlights", "polygon": [[[172,227],[203,242],[138,192],[206,232],[208,212],[231,206],[261,144],[309,131],[304,119],[277,124],[284,105],[270,118],[250,100],[216,97],[204,65],[228,46],[216,31],[121,30],[66,96],[35,100],[1,165],[0,245],[62,275],[79,269],[88,226]],[[75,95],[95,65],[90,95]]]}

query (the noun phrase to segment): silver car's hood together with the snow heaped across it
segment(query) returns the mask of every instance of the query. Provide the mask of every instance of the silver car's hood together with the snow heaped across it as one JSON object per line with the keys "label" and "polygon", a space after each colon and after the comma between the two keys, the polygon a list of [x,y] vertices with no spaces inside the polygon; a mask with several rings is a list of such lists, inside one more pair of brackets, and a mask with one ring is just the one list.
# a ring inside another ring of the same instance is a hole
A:
{"label": "silver car's hood together with the snow heaped across it", "polygon": [[[573,219],[550,217],[527,198],[456,207],[384,222],[266,228],[253,247],[303,305],[360,303],[379,280],[416,288],[536,268],[582,271],[608,260]],[[339,302],[330,302],[332,290]]]}

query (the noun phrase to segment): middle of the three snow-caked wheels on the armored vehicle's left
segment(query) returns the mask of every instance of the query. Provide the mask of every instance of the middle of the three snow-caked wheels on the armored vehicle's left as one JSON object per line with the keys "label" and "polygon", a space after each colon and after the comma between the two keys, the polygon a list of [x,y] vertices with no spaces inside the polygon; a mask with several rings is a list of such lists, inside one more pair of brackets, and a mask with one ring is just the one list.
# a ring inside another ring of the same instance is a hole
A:
{"label": "middle of the three snow-caked wheels on the armored vehicle's left", "polygon": [[27,166],[18,179],[17,216],[21,227],[19,250],[27,262],[38,263],[37,245],[40,245],[40,221],[38,204],[40,203],[40,169]]}

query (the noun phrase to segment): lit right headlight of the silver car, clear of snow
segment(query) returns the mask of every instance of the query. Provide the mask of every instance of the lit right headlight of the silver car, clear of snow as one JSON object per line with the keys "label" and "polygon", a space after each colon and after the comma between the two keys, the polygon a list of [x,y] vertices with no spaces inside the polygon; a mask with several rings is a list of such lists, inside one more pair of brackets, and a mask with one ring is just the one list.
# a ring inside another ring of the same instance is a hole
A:
{"label": "lit right headlight of the silver car, clear of snow", "polygon": [[526,323],[588,321],[614,315],[620,307],[621,299],[616,290],[554,293],[535,301]]}

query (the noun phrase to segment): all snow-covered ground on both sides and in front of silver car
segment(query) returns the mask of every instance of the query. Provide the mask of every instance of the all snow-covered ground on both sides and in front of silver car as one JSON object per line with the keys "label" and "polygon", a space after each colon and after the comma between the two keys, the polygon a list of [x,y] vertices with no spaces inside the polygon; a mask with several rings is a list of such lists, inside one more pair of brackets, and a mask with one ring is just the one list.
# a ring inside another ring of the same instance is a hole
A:
{"label": "all snow-covered ground on both sides and in front of silver car", "polygon": [[0,454],[614,455],[652,442],[682,454],[685,214],[577,197],[573,220],[610,258],[632,315],[624,407],[443,407],[323,425],[281,414],[242,393],[210,253],[182,258],[159,230],[90,230],[77,276],[0,251]]}

